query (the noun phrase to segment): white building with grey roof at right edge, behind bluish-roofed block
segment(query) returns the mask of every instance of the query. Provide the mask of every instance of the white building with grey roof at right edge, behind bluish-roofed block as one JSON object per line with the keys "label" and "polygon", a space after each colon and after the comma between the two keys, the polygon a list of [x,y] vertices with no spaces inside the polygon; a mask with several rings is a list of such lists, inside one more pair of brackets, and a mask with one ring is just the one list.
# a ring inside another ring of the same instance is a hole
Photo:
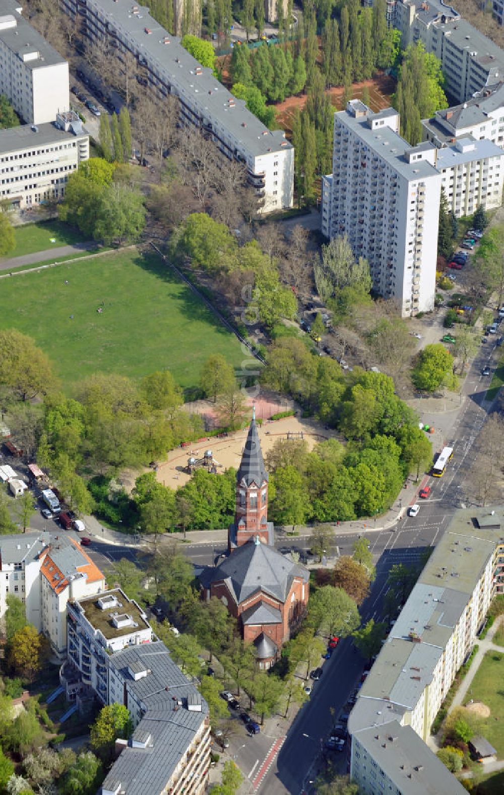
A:
{"label": "white building with grey roof at right edge, behind bluish-roofed block", "polygon": [[422,137],[441,148],[471,135],[504,149],[504,83],[479,91],[467,102],[422,119]]}

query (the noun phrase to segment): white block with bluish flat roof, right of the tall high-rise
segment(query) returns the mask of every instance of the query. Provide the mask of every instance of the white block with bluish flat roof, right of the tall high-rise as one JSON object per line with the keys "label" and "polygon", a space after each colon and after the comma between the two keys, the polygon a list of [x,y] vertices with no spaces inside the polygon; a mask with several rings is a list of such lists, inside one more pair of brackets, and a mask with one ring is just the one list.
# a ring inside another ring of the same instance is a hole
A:
{"label": "white block with bluish flat roof, right of the tall high-rise", "polygon": [[480,205],[486,210],[501,206],[504,151],[491,141],[457,138],[436,149],[436,168],[456,218],[472,215]]}

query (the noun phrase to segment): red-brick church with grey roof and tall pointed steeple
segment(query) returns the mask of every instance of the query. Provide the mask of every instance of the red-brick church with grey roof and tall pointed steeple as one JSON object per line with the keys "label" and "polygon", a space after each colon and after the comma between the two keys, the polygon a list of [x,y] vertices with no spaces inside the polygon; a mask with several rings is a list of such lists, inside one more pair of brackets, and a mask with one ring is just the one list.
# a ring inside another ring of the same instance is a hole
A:
{"label": "red-brick church with grey roof and tall pointed steeple", "polygon": [[254,643],[258,665],[268,669],[304,618],[309,573],[274,548],[268,522],[268,473],[253,412],[236,477],[235,522],[227,557],[200,576],[204,599],[216,596],[238,620],[242,638]]}

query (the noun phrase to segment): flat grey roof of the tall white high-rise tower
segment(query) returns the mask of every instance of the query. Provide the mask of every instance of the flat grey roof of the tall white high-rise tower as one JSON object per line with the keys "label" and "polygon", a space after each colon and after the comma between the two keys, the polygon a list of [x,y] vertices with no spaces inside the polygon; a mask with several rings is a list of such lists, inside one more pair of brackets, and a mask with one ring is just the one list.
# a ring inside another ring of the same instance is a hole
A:
{"label": "flat grey roof of the tall white high-rise tower", "polygon": [[[363,107],[367,110],[365,105],[363,105]],[[396,111],[394,111],[394,114],[395,113]],[[349,127],[361,138],[363,143],[369,146],[370,149],[373,149],[382,160],[386,161],[397,173],[404,176],[406,180],[421,180],[428,176],[437,175],[436,169],[428,161],[419,160],[413,163],[408,163],[408,161],[406,161],[405,153],[411,149],[411,146],[390,127],[382,126],[378,127],[378,129],[371,130],[368,119],[372,120],[376,118],[377,115],[378,114],[369,111],[367,117],[355,118],[355,116],[348,111],[339,111],[335,114],[335,118],[344,126]]]}

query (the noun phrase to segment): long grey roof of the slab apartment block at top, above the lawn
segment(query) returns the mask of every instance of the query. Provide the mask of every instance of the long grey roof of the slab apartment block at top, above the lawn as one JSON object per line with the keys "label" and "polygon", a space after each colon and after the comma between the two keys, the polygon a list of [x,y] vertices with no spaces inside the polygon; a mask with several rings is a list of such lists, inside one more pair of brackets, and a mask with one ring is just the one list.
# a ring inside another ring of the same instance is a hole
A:
{"label": "long grey roof of the slab apartment block at top, above the lawn", "polygon": [[[149,14],[145,6],[135,6],[131,0],[87,0],[90,9],[100,10],[107,24],[117,26],[140,56],[148,59],[154,71],[172,85],[181,99],[197,101],[200,114],[214,119],[242,143],[253,156],[282,148],[290,149],[283,130],[268,130],[248,111],[242,99],[235,99],[222,83],[212,75],[211,69],[201,68],[197,60],[180,45],[180,38],[172,36]],[[145,29],[149,33],[145,33]],[[196,75],[196,68],[201,73]],[[234,107],[230,107],[230,100]]]}

